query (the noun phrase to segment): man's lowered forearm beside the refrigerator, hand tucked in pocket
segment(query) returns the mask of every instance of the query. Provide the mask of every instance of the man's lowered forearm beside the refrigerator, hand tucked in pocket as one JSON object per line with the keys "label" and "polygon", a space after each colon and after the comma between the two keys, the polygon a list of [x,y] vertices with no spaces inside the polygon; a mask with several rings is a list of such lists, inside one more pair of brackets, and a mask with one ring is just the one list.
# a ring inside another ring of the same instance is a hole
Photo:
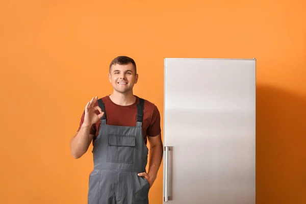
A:
{"label": "man's lowered forearm beside the refrigerator, hand tucked in pocket", "polygon": [[149,157],[148,174],[155,180],[163,158],[163,144],[150,147]]}

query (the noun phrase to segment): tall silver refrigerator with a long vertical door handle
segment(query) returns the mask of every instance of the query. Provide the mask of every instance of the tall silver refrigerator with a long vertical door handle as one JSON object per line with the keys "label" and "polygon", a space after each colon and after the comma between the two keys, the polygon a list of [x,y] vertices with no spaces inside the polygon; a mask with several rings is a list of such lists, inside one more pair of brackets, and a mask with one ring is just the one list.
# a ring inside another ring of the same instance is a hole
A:
{"label": "tall silver refrigerator with a long vertical door handle", "polygon": [[256,59],[164,69],[163,203],[256,203]]}

